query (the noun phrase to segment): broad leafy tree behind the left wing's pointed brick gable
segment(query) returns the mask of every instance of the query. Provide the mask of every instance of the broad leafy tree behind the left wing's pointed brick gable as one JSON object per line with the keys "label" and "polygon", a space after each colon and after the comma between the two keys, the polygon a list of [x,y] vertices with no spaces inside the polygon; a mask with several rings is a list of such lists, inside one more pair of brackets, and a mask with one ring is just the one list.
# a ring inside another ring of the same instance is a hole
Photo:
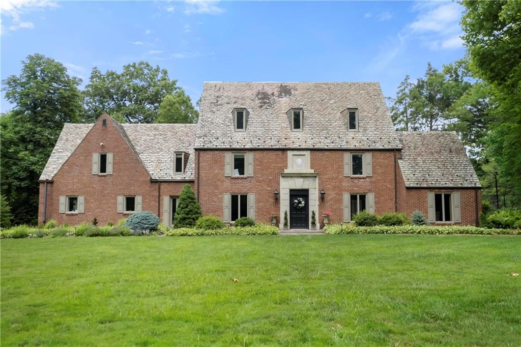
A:
{"label": "broad leafy tree behind the left wing's pointed brick gable", "polygon": [[[94,68],[83,91],[85,111],[90,121],[106,112],[122,122],[153,123],[165,96],[180,91],[176,83],[166,69],[146,61],[125,65],[121,73]],[[182,111],[187,103],[191,104],[188,96],[179,94],[177,104]]]}

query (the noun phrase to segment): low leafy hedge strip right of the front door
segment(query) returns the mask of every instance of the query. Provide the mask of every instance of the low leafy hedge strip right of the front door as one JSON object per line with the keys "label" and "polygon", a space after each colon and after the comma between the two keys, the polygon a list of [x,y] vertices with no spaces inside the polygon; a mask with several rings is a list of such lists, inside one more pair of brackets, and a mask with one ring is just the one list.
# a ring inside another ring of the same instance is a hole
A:
{"label": "low leafy hedge strip right of the front door", "polygon": [[487,229],[473,226],[374,226],[358,227],[354,224],[330,224],[324,227],[325,234],[479,234],[521,235],[521,229]]}

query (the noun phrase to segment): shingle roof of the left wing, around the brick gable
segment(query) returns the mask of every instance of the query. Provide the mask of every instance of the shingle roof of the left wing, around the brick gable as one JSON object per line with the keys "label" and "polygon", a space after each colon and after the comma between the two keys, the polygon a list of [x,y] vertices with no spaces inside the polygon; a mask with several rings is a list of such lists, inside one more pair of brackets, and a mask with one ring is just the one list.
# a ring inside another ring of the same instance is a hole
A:
{"label": "shingle roof of the left wing, around the brick gable", "polygon": [[[194,179],[195,124],[120,124],[114,120],[113,123],[152,179]],[[65,124],[40,180],[53,179],[92,126]],[[183,173],[173,172],[175,152],[187,152],[189,155]]]}

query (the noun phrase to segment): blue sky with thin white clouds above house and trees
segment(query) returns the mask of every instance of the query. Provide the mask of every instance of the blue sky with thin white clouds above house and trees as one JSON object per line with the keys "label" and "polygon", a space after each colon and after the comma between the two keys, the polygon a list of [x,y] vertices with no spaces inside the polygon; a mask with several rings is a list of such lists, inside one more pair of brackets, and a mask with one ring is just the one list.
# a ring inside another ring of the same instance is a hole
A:
{"label": "blue sky with thin white clouds above house and trees", "polygon": [[[40,53],[89,82],[146,60],[195,103],[204,81],[377,81],[394,96],[465,49],[454,2],[1,0],[2,79]],[[2,92],[1,110],[10,105]]]}

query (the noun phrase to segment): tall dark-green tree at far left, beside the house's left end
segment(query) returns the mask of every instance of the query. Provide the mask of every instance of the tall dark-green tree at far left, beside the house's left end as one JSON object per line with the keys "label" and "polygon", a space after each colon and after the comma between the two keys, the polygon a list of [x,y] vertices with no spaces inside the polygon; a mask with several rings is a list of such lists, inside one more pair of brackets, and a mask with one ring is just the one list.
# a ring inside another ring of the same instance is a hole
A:
{"label": "tall dark-green tree at far left, beside the house's left end", "polygon": [[14,224],[38,218],[38,179],[64,122],[78,122],[81,80],[70,77],[58,61],[41,54],[22,61],[19,76],[2,81],[14,108],[0,117],[1,191]]}

